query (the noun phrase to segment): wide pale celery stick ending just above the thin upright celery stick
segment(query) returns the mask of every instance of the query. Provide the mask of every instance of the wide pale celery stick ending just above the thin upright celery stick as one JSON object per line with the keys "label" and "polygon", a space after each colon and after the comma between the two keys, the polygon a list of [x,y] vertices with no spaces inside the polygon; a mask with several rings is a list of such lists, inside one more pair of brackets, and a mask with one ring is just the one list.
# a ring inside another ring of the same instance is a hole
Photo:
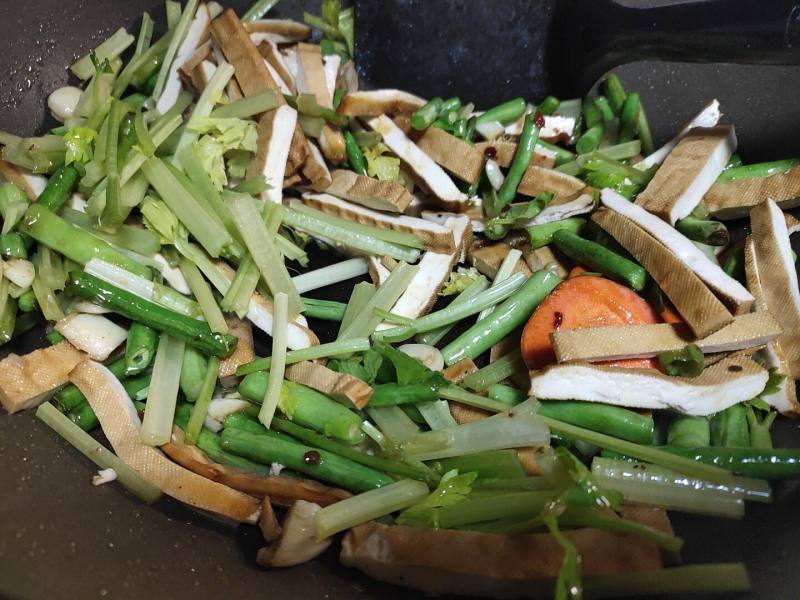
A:
{"label": "wide pale celery stick ending just above the thin upright celery stick", "polygon": [[286,294],[289,317],[295,319],[303,311],[303,301],[286,270],[283,257],[267,232],[255,200],[246,194],[235,194],[228,197],[226,204],[261,277],[273,295]]}

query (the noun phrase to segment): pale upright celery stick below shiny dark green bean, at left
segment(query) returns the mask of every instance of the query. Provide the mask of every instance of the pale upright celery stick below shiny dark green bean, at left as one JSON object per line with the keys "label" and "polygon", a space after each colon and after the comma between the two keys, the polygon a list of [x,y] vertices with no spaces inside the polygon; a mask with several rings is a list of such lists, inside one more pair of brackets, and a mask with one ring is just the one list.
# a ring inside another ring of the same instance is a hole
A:
{"label": "pale upright celery stick below shiny dark green bean, at left", "polygon": [[153,363],[153,375],[147,393],[142,429],[142,442],[162,446],[172,437],[172,419],[178,402],[178,386],[186,344],[183,340],[162,333]]}

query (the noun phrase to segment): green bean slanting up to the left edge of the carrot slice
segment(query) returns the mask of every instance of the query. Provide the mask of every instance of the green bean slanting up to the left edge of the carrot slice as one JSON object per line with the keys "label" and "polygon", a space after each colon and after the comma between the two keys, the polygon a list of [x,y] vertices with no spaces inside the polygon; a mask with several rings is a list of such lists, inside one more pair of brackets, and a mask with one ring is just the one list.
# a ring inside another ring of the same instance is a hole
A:
{"label": "green bean slanting up to the left edge of the carrot slice", "polygon": [[479,320],[442,349],[445,363],[475,358],[499,342],[530,317],[542,300],[561,283],[552,271],[537,271],[488,317]]}

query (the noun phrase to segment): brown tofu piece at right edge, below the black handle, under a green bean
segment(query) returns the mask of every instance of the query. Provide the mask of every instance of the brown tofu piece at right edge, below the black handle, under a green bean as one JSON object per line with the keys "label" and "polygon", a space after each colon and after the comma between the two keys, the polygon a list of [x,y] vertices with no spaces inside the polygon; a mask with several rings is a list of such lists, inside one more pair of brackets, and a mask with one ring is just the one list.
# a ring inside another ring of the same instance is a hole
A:
{"label": "brown tofu piece at right edge, below the black handle, under a green bean", "polygon": [[714,184],[703,196],[703,202],[718,219],[739,219],[767,198],[783,210],[800,206],[800,165],[769,177]]}

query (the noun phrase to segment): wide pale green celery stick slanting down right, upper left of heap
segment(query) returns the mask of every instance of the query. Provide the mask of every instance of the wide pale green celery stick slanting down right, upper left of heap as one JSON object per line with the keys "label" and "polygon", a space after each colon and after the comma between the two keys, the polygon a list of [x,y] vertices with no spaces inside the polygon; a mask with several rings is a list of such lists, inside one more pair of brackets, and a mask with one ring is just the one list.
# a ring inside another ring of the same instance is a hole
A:
{"label": "wide pale green celery stick slanting down right, upper left of heap", "polygon": [[213,257],[218,257],[234,242],[230,234],[200,205],[167,165],[151,158],[142,165],[142,172],[164,202],[186,225],[186,229]]}

